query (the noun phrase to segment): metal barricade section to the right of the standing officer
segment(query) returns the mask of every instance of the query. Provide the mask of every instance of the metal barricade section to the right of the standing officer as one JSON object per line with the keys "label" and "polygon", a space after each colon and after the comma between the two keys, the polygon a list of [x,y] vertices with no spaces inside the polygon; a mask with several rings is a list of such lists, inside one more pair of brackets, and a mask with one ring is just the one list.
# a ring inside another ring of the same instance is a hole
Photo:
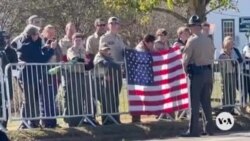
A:
{"label": "metal barricade section to the right of the standing officer", "polygon": [[216,60],[213,65],[212,107],[233,112],[243,105],[241,67],[237,60]]}

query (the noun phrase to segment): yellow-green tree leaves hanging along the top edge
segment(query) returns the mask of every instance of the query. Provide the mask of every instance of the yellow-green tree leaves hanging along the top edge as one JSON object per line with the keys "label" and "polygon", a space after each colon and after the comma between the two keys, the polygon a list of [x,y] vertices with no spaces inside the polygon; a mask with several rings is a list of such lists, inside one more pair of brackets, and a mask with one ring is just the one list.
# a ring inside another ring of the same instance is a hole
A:
{"label": "yellow-green tree leaves hanging along the top edge", "polygon": [[[169,10],[161,10],[161,12],[165,12],[167,14],[172,14],[176,16],[176,18],[182,19],[186,18],[185,16],[181,17],[179,11],[174,11],[175,7],[181,7],[186,9],[191,9],[190,13],[187,15],[196,13],[200,16],[205,17],[208,12],[211,12],[215,9],[236,9],[236,5],[232,2],[232,0],[103,0],[105,5],[120,10],[124,7],[128,9],[136,9],[141,13],[149,13],[152,12],[155,8],[161,7],[163,3],[165,3],[165,9]],[[208,12],[206,11],[207,6]],[[162,7],[161,7],[162,8]],[[193,11],[192,11],[193,10]]]}

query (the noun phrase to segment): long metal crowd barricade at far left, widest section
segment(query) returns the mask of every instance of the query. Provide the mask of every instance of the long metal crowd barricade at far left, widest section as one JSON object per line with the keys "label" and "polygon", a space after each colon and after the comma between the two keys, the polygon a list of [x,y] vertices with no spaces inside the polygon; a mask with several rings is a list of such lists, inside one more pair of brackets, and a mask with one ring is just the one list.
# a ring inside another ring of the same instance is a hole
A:
{"label": "long metal crowd barricade at far left, widest section", "polygon": [[31,122],[56,118],[64,118],[69,126],[84,121],[96,126],[90,120],[94,113],[92,78],[84,64],[9,64],[5,74],[12,79],[6,79],[10,120],[22,121],[28,128]]}

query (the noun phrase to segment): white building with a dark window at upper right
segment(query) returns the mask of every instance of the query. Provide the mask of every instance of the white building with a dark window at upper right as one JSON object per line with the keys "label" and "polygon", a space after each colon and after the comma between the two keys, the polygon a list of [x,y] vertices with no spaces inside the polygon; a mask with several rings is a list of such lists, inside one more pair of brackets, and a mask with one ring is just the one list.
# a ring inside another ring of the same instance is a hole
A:
{"label": "white building with a dark window at upper right", "polygon": [[215,26],[212,34],[216,46],[216,58],[221,52],[225,36],[234,37],[235,47],[240,51],[248,42],[246,31],[250,30],[250,0],[237,0],[237,7],[239,11],[218,9],[207,15],[207,21]]}

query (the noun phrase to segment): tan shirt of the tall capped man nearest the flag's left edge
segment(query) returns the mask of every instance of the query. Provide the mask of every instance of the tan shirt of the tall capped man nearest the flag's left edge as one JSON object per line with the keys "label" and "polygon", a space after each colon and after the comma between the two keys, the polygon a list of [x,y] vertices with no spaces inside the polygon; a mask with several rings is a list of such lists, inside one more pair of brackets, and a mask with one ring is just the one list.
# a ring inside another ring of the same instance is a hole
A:
{"label": "tan shirt of the tall capped man nearest the flag's left edge", "polygon": [[99,45],[104,43],[109,45],[111,49],[111,56],[115,62],[124,62],[123,49],[125,49],[126,45],[119,35],[110,32],[105,33],[101,36]]}

